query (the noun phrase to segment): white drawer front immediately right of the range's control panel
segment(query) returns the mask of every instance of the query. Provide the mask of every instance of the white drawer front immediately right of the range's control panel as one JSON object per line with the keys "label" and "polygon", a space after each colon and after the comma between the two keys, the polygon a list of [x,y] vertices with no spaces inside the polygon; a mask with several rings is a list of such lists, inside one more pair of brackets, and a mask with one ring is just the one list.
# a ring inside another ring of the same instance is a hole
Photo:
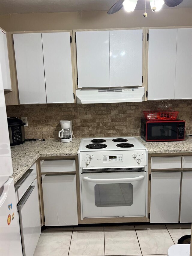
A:
{"label": "white drawer front immediately right of the range's control panel", "polygon": [[181,157],[152,157],[151,169],[181,168]]}

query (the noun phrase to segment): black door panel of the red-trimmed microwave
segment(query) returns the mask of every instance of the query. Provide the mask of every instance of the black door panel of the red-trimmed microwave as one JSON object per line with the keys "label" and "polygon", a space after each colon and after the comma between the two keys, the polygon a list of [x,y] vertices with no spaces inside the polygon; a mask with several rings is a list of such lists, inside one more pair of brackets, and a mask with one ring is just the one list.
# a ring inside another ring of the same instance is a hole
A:
{"label": "black door panel of the red-trimmed microwave", "polygon": [[147,124],[148,140],[176,140],[177,122],[159,122]]}

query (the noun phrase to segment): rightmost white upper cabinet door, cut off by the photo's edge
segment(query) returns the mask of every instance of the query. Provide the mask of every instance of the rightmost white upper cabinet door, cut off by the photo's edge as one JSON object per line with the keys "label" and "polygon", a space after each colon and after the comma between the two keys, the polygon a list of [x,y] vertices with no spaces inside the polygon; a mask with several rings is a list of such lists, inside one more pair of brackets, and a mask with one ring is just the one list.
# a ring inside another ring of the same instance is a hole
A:
{"label": "rightmost white upper cabinet door, cut off by the photo's edge", "polygon": [[192,98],[192,29],[177,29],[175,99]]}

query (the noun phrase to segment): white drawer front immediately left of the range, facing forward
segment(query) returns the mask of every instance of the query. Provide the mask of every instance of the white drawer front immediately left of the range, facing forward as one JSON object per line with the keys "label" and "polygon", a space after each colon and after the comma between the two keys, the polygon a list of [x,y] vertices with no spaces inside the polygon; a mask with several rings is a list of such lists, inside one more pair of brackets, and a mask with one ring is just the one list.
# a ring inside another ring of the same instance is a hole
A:
{"label": "white drawer front immediately left of the range, facing forward", "polygon": [[41,160],[41,172],[75,172],[75,159],[72,160]]}

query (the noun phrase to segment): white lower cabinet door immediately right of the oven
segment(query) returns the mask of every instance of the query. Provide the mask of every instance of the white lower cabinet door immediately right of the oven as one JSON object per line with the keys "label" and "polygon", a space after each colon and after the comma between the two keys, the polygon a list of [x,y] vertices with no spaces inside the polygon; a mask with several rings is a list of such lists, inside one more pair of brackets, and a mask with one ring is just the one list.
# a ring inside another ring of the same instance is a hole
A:
{"label": "white lower cabinet door immediately right of the oven", "polygon": [[179,222],[180,172],[152,172],[151,223]]}

